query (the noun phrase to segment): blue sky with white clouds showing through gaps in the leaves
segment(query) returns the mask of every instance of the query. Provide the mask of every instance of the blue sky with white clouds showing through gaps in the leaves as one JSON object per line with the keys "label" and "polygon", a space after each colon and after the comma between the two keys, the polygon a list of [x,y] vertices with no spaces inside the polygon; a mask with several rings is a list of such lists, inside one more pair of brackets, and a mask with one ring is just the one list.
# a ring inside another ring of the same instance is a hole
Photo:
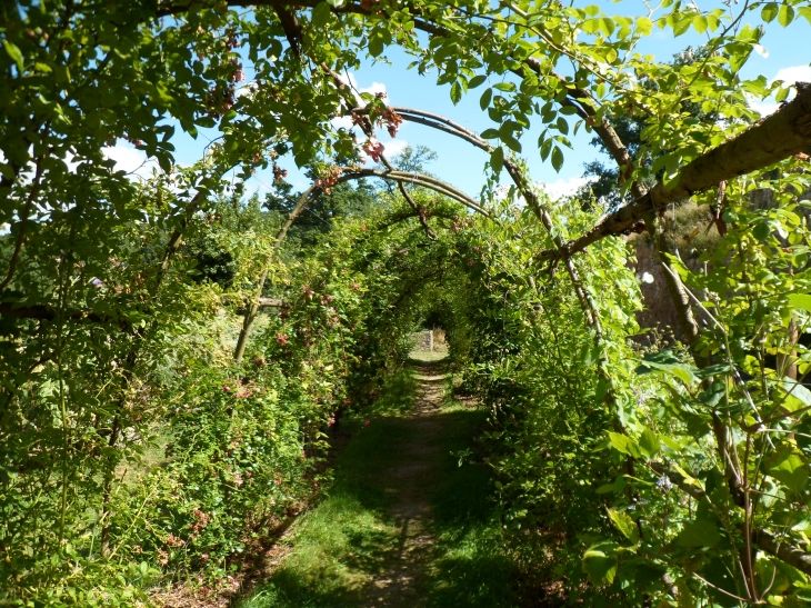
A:
{"label": "blue sky with white clouds showing through gaps in the leaves", "polygon": [[[702,9],[714,6],[723,7],[715,1],[695,1]],[[581,7],[598,3],[609,14],[637,16],[648,13],[645,4],[641,0],[624,2],[574,0],[572,3]],[[769,79],[779,77],[785,80],[811,81],[811,68],[809,67],[811,62],[811,43],[808,42],[810,37],[811,24],[804,19],[794,21],[789,28],[780,27],[777,21],[772,22],[767,28],[767,33],[762,40],[768,57],[752,53],[742,76],[744,78],[754,78],[763,74]],[[679,38],[672,38],[670,30],[654,29],[653,33],[641,42],[638,50],[642,53],[654,54],[660,60],[667,61],[685,47],[697,47],[705,40],[705,36],[701,37],[692,29]],[[451,118],[474,131],[480,132],[491,127],[490,119],[479,108],[479,96],[484,87],[472,90],[462,98],[459,104],[454,106],[450,100],[449,87],[438,87],[435,84],[435,73],[419,76],[417,70],[407,70],[406,66],[412,59],[399,49],[390,49],[387,51],[386,57],[391,62],[390,64],[382,61],[367,61],[357,73],[352,74],[360,89],[384,90],[388,93],[388,102],[392,106],[430,110]],[[250,71],[248,74],[250,77]],[[773,108],[773,104],[765,103],[762,106],[761,111],[769,113]],[[535,121],[540,122],[538,119]],[[557,173],[551,163],[541,161],[535,144],[539,133],[540,129],[534,127],[524,134],[522,138],[523,157],[528,160],[535,180],[547,183],[551,193],[565,193],[578,185],[583,172],[583,163],[599,157],[597,149],[589,144],[591,136],[581,130],[578,136],[572,138],[574,149],[565,151],[565,163],[560,173]],[[484,163],[487,162],[487,155],[451,136],[406,122],[402,124],[396,140],[391,140],[383,129],[380,130],[379,139],[386,146],[389,156],[402,150],[406,144],[422,144],[431,148],[438,153],[439,158],[429,167],[429,170],[474,197],[485,181]],[[178,162],[187,165],[198,160],[207,142],[206,137],[200,137],[197,140],[192,140],[188,136],[177,137]],[[116,149],[111,149],[110,156],[128,170],[133,169],[143,160],[141,152],[123,143]],[[292,160],[281,165],[289,170],[288,179],[297,189],[303,190],[309,186],[307,178],[296,169]],[[270,171],[262,171],[250,180],[248,189],[261,193],[267,191],[271,183],[272,175]]]}

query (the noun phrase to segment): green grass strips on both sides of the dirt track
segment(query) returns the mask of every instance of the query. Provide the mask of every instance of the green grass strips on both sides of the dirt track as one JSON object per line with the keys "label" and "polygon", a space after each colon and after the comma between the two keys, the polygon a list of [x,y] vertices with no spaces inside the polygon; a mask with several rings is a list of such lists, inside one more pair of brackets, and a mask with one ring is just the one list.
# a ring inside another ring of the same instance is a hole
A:
{"label": "green grass strips on both sides of the dirt track", "polygon": [[[327,498],[299,524],[293,550],[241,608],[358,608],[367,606],[376,576],[397,559],[400,528],[390,515],[386,475],[414,438],[407,418],[417,382],[396,377],[363,417],[342,422],[351,440],[340,455]],[[474,460],[473,437],[485,415],[447,399],[438,416],[441,449],[430,460],[434,539],[421,605],[428,608],[514,607],[513,568],[488,499],[489,475]],[[364,420],[369,426],[364,426]],[[460,466],[460,459],[462,460]]]}

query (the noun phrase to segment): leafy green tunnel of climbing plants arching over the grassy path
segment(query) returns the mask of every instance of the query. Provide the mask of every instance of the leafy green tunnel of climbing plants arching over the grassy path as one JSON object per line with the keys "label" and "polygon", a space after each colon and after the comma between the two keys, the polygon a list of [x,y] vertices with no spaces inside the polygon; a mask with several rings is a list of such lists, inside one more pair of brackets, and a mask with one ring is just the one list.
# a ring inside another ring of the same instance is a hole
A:
{"label": "leafy green tunnel of climbing plants arching over the grassy path", "polygon": [[[811,86],[741,71],[811,9],[607,10],[0,7],[0,605],[230,584],[251,535],[320,499],[330,426],[422,322],[488,412],[504,542],[564,601],[811,601]],[[709,41],[658,62],[634,51],[654,24]],[[454,104],[487,84],[493,127],[360,92],[349,70],[394,47]],[[591,133],[610,191],[552,201],[532,121],[557,170]],[[485,155],[481,196],[389,158],[377,133],[403,122]],[[176,131],[212,136],[200,161]],[[122,141],[151,176],[116,169]],[[272,191],[243,197],[263,169]],[[288,239],[361,181],[389,187]],[[677,233],[690,206],[709,211]],[[633,238],[678,325],[644,348]]]}

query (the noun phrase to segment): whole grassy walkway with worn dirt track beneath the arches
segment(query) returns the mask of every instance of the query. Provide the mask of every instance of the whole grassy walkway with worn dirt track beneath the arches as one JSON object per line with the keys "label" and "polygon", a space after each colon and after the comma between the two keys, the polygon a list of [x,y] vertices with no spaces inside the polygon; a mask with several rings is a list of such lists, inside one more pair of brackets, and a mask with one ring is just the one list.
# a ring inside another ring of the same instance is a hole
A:
{"label": "whole grassy walkway with worn dirt track beneath the arches", "polygon": [[459,466],[484,413],[449,400],[442,361],[414,361],[348,421],[329,496],[243,608],[514,608],[514,580],[487,499],[489,476]]}

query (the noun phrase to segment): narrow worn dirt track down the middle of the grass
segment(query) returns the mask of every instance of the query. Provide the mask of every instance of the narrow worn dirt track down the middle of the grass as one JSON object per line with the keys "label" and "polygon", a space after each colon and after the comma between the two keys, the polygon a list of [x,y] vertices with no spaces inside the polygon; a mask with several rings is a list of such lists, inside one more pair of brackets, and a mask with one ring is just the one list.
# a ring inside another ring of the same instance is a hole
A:
{"label": "narrow worn dirt track down the middle of the grass", "polygon": [[400,529],[397,556],[373,578],[362,608],[419,607],[430,578],[434,539],[428,531],[432,514],[427,481],[441,450],[442,418],[437,415],[445,377],[428,362],[414,365],[414,377],[419,385],[408,417],[412,439],[402,445],[397,465],[384,476],[386,491],[396,497],[391,514]]}

